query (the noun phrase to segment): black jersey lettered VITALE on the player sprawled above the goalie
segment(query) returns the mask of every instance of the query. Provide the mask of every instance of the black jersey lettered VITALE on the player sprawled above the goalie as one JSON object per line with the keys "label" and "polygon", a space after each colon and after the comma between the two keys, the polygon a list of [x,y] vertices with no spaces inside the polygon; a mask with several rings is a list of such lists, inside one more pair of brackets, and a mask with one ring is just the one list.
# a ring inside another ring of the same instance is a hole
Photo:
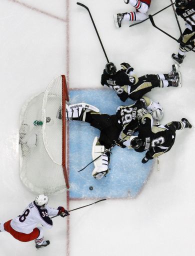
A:
{"label": "black jersey lettered VITALE on the player sprawled above the goalie", "polygon": [[122,101],[125,101],[130,93],[130,86],[137,82],[136,76],[129,76],[124,70],[118,70],[114,75],[106,73],[101,75],[101,84],[113,89]]}

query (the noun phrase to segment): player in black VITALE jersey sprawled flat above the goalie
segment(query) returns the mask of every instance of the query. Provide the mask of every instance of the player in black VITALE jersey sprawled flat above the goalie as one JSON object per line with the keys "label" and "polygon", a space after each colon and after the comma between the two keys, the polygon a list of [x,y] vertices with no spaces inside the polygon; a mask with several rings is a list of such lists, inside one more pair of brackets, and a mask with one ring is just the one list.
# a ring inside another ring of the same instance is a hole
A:
{"label": "player in black VITALE jersey sprawled flat above the goalie", "polygon": [[109,62],[101,75],[101,84],[113,89],[122,101],[127,98],[137,100],[155,87],[181,86],[181,74],[176,64],[167,74],[146,74],[137,77],[133,67],[128,63],[120,64],[122,69],[116,71],[116,66]]}

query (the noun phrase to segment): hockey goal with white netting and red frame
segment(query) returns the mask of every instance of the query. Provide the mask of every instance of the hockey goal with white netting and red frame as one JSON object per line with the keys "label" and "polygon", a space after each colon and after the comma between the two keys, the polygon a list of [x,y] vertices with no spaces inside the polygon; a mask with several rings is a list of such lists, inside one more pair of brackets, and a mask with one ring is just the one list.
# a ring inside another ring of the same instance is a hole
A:
{"label": "hockey goal with white netting and red frame", "polygon": [[53,194],[69,188],[66,171],[65,75],[22,106],[19,128],[19,175],[34,193]]}

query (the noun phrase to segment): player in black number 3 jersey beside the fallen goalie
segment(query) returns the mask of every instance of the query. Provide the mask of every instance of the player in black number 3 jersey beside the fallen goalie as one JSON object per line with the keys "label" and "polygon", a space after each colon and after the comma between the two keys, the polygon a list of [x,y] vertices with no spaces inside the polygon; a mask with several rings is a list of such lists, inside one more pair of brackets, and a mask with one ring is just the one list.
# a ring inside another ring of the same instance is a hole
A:
{"label": "player in black number 3 jersey beside the fallen goalie", "polygon": [[120,144],[122,147],[133,147],[137,152],[147,150],[141,161],[142,163],[168,152],[174,144],[176,130],[191,128],[191,124],[186,118],[165,125],[152,125],[153,118],[151,114],[143,115],[139,120],[138,136],[131,136]]}

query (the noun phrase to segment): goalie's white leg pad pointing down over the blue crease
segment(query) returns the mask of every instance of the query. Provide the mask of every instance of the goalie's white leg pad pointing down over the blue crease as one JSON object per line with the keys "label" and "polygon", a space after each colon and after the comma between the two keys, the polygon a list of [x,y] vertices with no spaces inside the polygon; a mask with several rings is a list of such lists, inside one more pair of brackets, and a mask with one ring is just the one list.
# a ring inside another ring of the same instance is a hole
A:
{"label": "goalie's white leg pad pointing down over the blue crease", "polygon": [[97,158],[94,163],[94,169],[92,171],[92,176],[96,179],[102,178],[108,172],[108,156],[103,154],[105,148],[100,145],[98,137],[94,137],[92,144],[92,159]]}

